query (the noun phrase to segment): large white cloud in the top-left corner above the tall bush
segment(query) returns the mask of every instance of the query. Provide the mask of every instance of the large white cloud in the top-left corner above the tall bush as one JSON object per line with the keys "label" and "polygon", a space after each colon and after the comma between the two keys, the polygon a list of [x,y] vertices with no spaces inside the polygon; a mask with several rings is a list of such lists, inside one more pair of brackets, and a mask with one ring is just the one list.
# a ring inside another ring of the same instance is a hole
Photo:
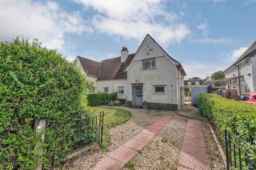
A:
{"label": "large white cloud in the top-left corner above the tall bush", "polygon": [[61,49],[66,33],[81,34],[92,29],[85,26],[79,12],[68,13],[56,2],[1,1],[0,41],[16,36],[38,38],[48,48]]}

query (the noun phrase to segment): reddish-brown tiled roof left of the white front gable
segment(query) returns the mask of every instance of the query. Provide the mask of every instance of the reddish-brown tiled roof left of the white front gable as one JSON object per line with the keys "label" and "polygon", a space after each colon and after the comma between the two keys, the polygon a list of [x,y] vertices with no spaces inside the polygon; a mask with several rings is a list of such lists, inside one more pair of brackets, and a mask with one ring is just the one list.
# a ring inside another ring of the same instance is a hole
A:
{"label": "reddish-brown tiled roof left of the white front gable", "polygon": [[83,69],[88,74],[98,76],[97,81],[127,79],[127,72],[124,70],[129,66],[135,54],[129,54],[125,62],[121,62],[121,57],[102,60],[96,62],[84,57],[77,56]]}

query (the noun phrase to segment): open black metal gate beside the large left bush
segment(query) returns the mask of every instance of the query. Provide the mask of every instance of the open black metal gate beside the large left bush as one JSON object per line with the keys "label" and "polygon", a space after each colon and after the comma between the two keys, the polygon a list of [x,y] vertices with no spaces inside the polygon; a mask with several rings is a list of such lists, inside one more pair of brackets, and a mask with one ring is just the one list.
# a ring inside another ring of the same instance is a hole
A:
{"label": "open black metal gate beside the large left bush", "polygon": [[48,135],[45,142],[56,147],[48,147],[52,153],[48,168],[53,169],[102,142],[104,112],[71,115],[46,122]]}

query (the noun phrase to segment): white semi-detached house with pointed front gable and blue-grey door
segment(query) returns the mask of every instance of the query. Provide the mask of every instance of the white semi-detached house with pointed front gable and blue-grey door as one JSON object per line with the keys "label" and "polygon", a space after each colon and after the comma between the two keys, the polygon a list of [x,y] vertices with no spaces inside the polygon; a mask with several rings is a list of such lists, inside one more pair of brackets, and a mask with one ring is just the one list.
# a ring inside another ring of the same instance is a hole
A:
{"label": "white semi-detached house with pointed front gable and blue-grey door", "polygon": [[134,54],[123,47],[121,57],[96,62],[77,56],[76,60],[95,92],[117,92],[119,100],[127,99],[131,106],[142,106],[146,100],[150,109],[183,107],[185,70],[148,34]]}

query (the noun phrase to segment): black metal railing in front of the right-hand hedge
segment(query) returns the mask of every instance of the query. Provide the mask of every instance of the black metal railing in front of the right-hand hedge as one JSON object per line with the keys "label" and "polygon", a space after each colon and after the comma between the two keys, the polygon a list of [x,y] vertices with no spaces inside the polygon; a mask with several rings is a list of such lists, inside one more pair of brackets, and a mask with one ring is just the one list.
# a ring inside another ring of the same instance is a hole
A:
{"label": "black metal railing in front of the right-hand hedge", "polygon": [[250,135],[243,140],[243,136],[225,129],[227,170],[255,170],[256,149],[252,146],[254,138]]}

